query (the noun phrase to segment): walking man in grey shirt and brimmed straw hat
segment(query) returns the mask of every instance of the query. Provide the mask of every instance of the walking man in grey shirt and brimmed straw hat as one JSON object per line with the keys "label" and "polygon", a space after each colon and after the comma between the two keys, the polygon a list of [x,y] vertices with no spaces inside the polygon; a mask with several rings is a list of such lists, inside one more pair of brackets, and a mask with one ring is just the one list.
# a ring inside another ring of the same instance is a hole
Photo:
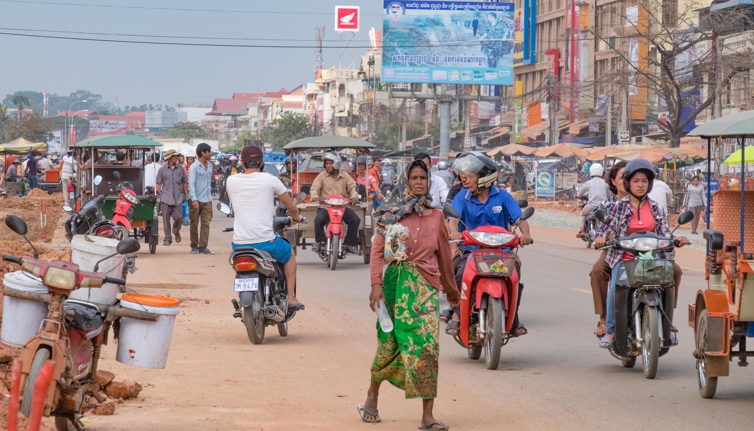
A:
{"label": "walking man in grey shirt and brimmed straw hat", "polygon": [[[155,179],[155,191],[160,198],[162,210],[162,227],[165,233],[163,245],[170,246],[173,243],[172,231],[176,236],[176,243],[181,242],[181,222],[183,218],[183,201],[189,196],[189,179],[186,177],[183,167],[178,166],[176,161],[180,154],[176,150],[167,150],[164,164],[157,171]],[[170,229],[170,219],[173,219],[173,228]]]}

